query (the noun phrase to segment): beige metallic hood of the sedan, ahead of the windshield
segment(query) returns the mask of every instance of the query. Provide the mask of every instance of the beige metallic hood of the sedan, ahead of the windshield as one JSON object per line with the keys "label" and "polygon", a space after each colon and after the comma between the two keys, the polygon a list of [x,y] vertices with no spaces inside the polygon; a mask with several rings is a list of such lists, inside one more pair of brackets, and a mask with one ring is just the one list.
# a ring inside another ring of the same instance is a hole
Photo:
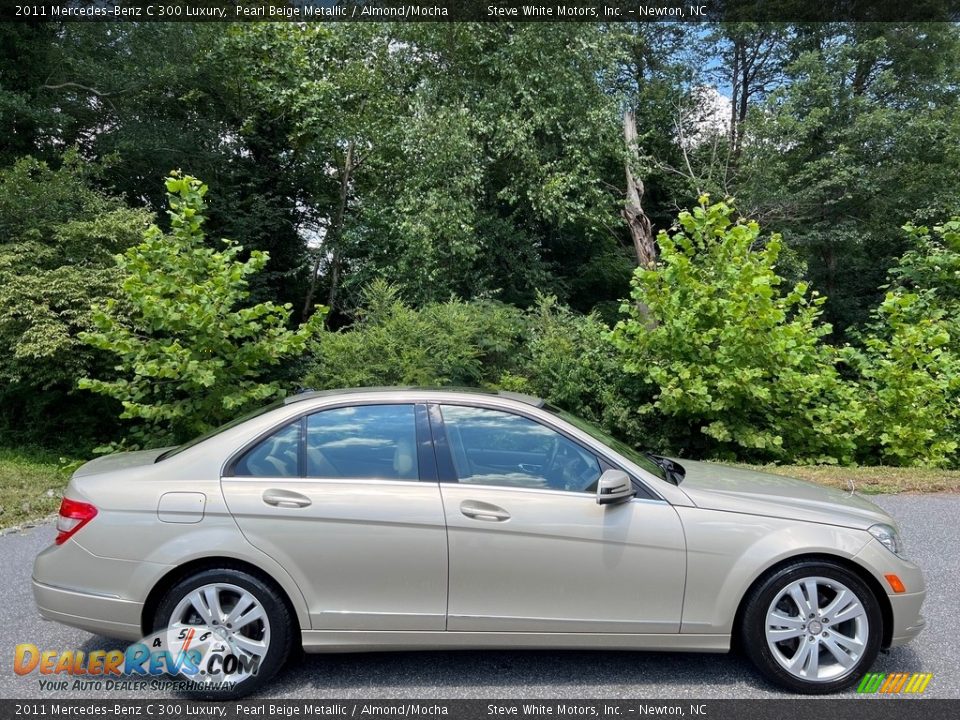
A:
{"label": "beige metallic hood of the sedan, ahead of the windshield", "polygon": [[855,493],[716,463],[677,462],[687,471],[680,488],[697,507],[860,529],[893,524],[885,511]]}

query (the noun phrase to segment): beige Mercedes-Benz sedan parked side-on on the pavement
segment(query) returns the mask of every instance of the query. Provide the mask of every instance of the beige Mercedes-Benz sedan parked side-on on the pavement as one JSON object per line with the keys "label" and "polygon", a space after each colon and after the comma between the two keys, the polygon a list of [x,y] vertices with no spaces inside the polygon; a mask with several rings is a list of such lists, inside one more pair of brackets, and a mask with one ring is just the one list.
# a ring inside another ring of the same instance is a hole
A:
{"label": "beige Mercedes-Benz sedan parked side-on on the pavement", "polygon": [[921,571],[872,503],[638,452],[510,393],[301,393],[87,463],[57,529],[33,572],[43,617],[219,652],[196,677],[227,672],[234,697],[300,646],[734,643],[827,693],[924,625]]}

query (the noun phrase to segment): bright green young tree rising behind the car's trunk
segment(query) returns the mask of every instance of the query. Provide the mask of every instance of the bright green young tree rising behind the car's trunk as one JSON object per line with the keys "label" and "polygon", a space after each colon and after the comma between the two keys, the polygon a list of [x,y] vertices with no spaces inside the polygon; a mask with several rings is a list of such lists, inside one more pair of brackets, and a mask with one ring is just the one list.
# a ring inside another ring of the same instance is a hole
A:
{"label": "bright green young tree rising behind the car's trunk", "polygon": [[119,400],[121,417],[142,421],[136,437],[147,442],[181,441],[282,395],[269,373],[303,352],[324,314],[291,331],[289,304],[246,304],[248,278],[267,255],[241,261],[230,241],[207,247],[207,186],[173,173],[166,187],[171,234],[152,225],[117,256],[118,297],[95,312],[97,331],[81,336],[116,357],[118,377],[80,387]]}

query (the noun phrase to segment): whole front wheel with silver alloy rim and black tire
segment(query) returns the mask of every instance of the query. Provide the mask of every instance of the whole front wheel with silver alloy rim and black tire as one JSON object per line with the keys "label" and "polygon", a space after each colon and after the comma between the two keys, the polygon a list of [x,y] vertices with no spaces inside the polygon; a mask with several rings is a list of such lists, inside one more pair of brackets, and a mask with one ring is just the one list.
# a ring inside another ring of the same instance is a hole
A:
{"label": "whole front wheel with silver alloy rim and black tire", "polygon": [[822,695],[855,685],[876,660],[882,637],[880,605],[866,583],[840,564],[801,560],[751,591],[740,640],[769,680]]}

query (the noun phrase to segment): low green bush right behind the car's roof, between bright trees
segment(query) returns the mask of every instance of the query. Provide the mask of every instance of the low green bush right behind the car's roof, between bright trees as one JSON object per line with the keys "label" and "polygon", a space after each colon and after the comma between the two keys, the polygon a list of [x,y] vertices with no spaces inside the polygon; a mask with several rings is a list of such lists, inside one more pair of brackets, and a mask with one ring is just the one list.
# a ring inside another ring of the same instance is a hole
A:
{"label": "low green bush right behind the car's roof, between bright trees", "polygon": [[519,310],[450,300],[413,309],[380,280],[363,293],[356,322],[312,346],[303,384],[491,386],[518,349]]}

